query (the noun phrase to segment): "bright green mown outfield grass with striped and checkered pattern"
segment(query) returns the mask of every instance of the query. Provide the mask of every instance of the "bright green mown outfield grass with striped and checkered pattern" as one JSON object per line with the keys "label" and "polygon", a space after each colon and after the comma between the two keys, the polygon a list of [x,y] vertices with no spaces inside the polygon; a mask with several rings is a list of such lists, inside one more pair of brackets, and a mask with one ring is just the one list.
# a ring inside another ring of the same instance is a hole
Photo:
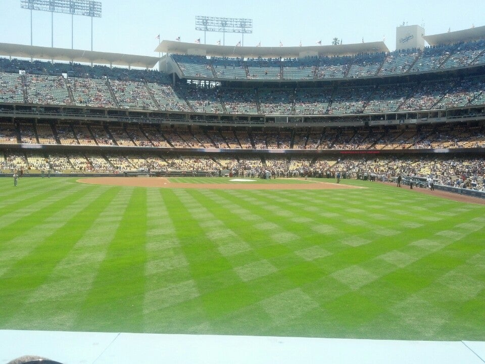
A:
{"label": "bright green mown outfield grass with striped and checkered pattern", "polygon": [[485,206],[343,183],[0,178],[0,329],[485,340]]}

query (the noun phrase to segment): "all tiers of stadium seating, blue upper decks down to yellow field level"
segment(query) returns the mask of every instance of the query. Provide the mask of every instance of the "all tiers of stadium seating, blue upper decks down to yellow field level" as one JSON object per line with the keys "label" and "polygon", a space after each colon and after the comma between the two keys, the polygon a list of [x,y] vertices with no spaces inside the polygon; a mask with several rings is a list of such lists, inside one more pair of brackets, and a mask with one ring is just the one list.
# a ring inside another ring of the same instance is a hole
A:
{"label": "all tiers of stadium seating, blue upper decks down to yellow field level", "polygon": [[[345,170],[356,177],[367,170],[432,173],[446,180],[460,173],[478,177],[484,172],[482,159],[456,154],[435,160],[428,151],[470,148],[481,155],[483,121],[395,121],[445,111],[481,118],[484,54],[485,41],[345,57],[169,55],[181,79],[155,70],[0,59],[0,108],[21,112],[0,119],[0,167],[8,173],[50,168],[217,175],[221,169],[258,175],[270,169],[278,176]],[[69,112],[81,117],[66,118]],[[302,116],[302,121],[271,124],[282,115]],[[336,126],[338,121],[345,125]],[[34,153],[21,147],[41,148]],[[201,148],[230,151],[205,154]],[[378,158],[343,157],[343,152],[363,151]]]}

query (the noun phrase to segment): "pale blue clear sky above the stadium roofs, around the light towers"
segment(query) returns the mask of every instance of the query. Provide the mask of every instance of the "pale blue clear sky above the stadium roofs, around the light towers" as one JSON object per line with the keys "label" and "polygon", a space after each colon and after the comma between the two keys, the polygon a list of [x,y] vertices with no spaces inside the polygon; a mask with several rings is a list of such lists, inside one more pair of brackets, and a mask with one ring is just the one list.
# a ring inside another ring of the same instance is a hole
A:
{"label": "pale blue clear sky above the stadium roofs, around the light towers", "polygon": [[[102,18],[93,20],[93,50],[157,56],[156,36],[193,42],[204,32],[195,30],[197,15],[250,18],[253,33],[245,34],[245,45],[261,41],[265,47],[330,44],[332,38],[344,43],[379,41],[385,37],[390,50],[396,48],[396,27],[424,24],[426,34],[444,33],[485,25],[485,1],[450,0],[359,1],[359,0],[244,0],[244,1],[160,1],[101,0]],[[51,46],[51,14],[33,12],[33,45]],[[215,44],[222,33],[207,33]],[[225,44],[236,44],[240,34],[226,33]],[[0,42],[30,44],[30,11],[20,0],[0,0]],[[54,47],[71,48],[71,16],[54,14]],[[74,17],[74,48],[90,50],[91,19]]]}

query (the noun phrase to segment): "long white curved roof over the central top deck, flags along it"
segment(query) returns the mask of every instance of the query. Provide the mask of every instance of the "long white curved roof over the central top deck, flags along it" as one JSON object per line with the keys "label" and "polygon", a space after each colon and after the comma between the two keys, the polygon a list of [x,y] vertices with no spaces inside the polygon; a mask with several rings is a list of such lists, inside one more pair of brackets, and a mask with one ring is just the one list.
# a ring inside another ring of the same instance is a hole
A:
{"label": "long white curved roof over the central top deck, flags along it", "polygon": [[360,53],[389,52],[389,49],[383,41],[356,44],[311,45],[306,47],[236,47],[235,45],[198,44],[163,40],[155,49],[155,52],[205,54],[207,56],[238,58],[293,58],[300,57],[305,53],[322,56],[352,56]]}

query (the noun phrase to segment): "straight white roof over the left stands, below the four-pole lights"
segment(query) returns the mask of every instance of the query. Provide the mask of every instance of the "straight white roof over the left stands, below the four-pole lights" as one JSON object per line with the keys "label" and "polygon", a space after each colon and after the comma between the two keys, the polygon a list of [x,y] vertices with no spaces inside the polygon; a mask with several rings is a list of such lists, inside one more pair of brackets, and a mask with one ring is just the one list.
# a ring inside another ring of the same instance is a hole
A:
{"label": "straight white roof over the left stands, below the four-pole lights", "polygon": [[0,56],[153,68],[158,57],[0,43]]}

